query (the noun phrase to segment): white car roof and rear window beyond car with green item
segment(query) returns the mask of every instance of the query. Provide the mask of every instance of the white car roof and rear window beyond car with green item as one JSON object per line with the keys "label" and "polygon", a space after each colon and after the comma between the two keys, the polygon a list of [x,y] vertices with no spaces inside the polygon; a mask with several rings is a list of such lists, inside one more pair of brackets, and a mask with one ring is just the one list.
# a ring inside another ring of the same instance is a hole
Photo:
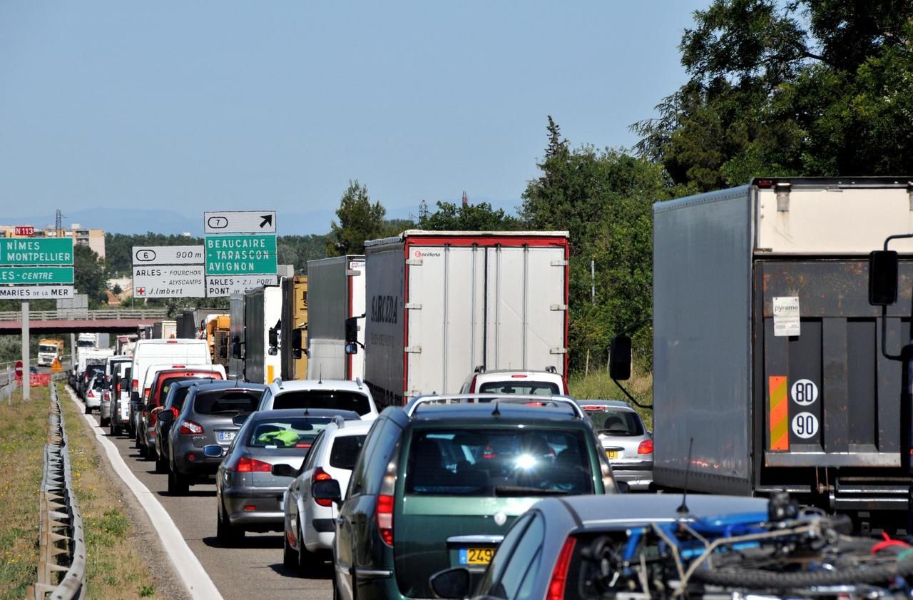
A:
{"label": "white car roof and rear window beyond car with green item", "polygon": [[379,415],[371,390],[361,379],[282,381],[277,377],[269,384],[257,410],[280,408],[341,408],[358,413],[363,421],[373,421]]}

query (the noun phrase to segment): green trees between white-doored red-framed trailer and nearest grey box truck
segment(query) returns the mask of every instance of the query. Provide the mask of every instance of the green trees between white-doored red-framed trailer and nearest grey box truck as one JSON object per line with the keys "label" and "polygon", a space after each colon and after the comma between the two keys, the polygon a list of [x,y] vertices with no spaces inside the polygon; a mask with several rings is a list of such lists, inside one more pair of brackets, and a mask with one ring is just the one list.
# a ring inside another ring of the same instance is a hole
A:
{"label": "green trees between white-doored red-framed trailer and nearest grey box truck", "polygon": [[[651,314],[652,205],[667,199],[669,188],[656,163],[593,146],[572,150],[551,117],[548,131],[541,175],[523,193],[522,216],[532,229],[570,231],[572,369],[583,368],[587,351],[604,366],[614,333]],[[650,334],[645,328],[635,336],[635,352],[647,361]]]}

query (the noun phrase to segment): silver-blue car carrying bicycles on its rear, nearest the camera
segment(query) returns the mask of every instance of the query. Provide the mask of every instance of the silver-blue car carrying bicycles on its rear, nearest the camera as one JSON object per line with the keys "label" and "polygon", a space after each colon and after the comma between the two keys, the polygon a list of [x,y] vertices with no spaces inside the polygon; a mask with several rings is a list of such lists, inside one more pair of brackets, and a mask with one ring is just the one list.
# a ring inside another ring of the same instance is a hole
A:
{"label": "silver-blue car carrying bicycles on its rear, nearest the camera", "polygon": [[[678,512],[681,504],[682,496],[679,494],[542,500],[520,517],[504,536],[475,591],[470,583],[469,570],[462,566],[433,575],[431,588],[436,597],[453,600],[462,600],[467,596],[477,600],[602,600],[616,595],[641,597],[642,594],[629,590],[629,579],[619,572],[620,569],[613,568],[611,560],[616,558],[615,566],[624,561],[624,542],[631,530],[679,520],[693,522],[729,513],[748,514],[765,520],[769,506],[768,500],[760,498],[695,495],[688,496],[688,511],[682,515]],[[604,562],[599,560],[603,553],[593,553],[594,546],[599,542],[609,544],[604,548],[609,551],[609,560]],[[617,547],[612,545],[613,542]],[[659,556],[656,546],[645,545],[647,558]],[[598,554],[597,560],[586,558],[594,554]],[[628,560],[637,564],[635,560]],[[677,578],[678,574],[673,569],[670,575]],[[653,590],[658,594],[656,582],[649,584],[654,585]],[[615,585],[617,587],[613,589]],[[671,593],[669,597],[672,597]]]}

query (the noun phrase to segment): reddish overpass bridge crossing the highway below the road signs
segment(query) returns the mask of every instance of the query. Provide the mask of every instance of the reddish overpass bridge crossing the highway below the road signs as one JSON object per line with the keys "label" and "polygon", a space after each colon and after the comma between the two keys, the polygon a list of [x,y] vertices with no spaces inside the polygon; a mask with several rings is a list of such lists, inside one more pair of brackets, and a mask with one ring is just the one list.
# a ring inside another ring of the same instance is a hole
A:
{"label": "reddish overpass bridge crossing the highway below the road signs", "polygon": [[[168,318],[164,309],[29,311],[28,330],[36,333],[135,333],[140,325]],[[0,311],[0,335],[22,332],[21,311]]]}

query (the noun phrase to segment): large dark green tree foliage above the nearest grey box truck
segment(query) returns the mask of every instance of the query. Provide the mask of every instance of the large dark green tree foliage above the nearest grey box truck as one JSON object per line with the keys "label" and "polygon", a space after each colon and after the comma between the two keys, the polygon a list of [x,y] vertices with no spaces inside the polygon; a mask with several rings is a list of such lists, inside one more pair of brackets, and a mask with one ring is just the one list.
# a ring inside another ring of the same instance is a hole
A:
{"label": "large dark green tree foliage above the nearest grey box truck", "polygon": [[913,1],[714,0],[680,46],[689,81],[632,129],[675,195],[762,175],[913,164]]}

